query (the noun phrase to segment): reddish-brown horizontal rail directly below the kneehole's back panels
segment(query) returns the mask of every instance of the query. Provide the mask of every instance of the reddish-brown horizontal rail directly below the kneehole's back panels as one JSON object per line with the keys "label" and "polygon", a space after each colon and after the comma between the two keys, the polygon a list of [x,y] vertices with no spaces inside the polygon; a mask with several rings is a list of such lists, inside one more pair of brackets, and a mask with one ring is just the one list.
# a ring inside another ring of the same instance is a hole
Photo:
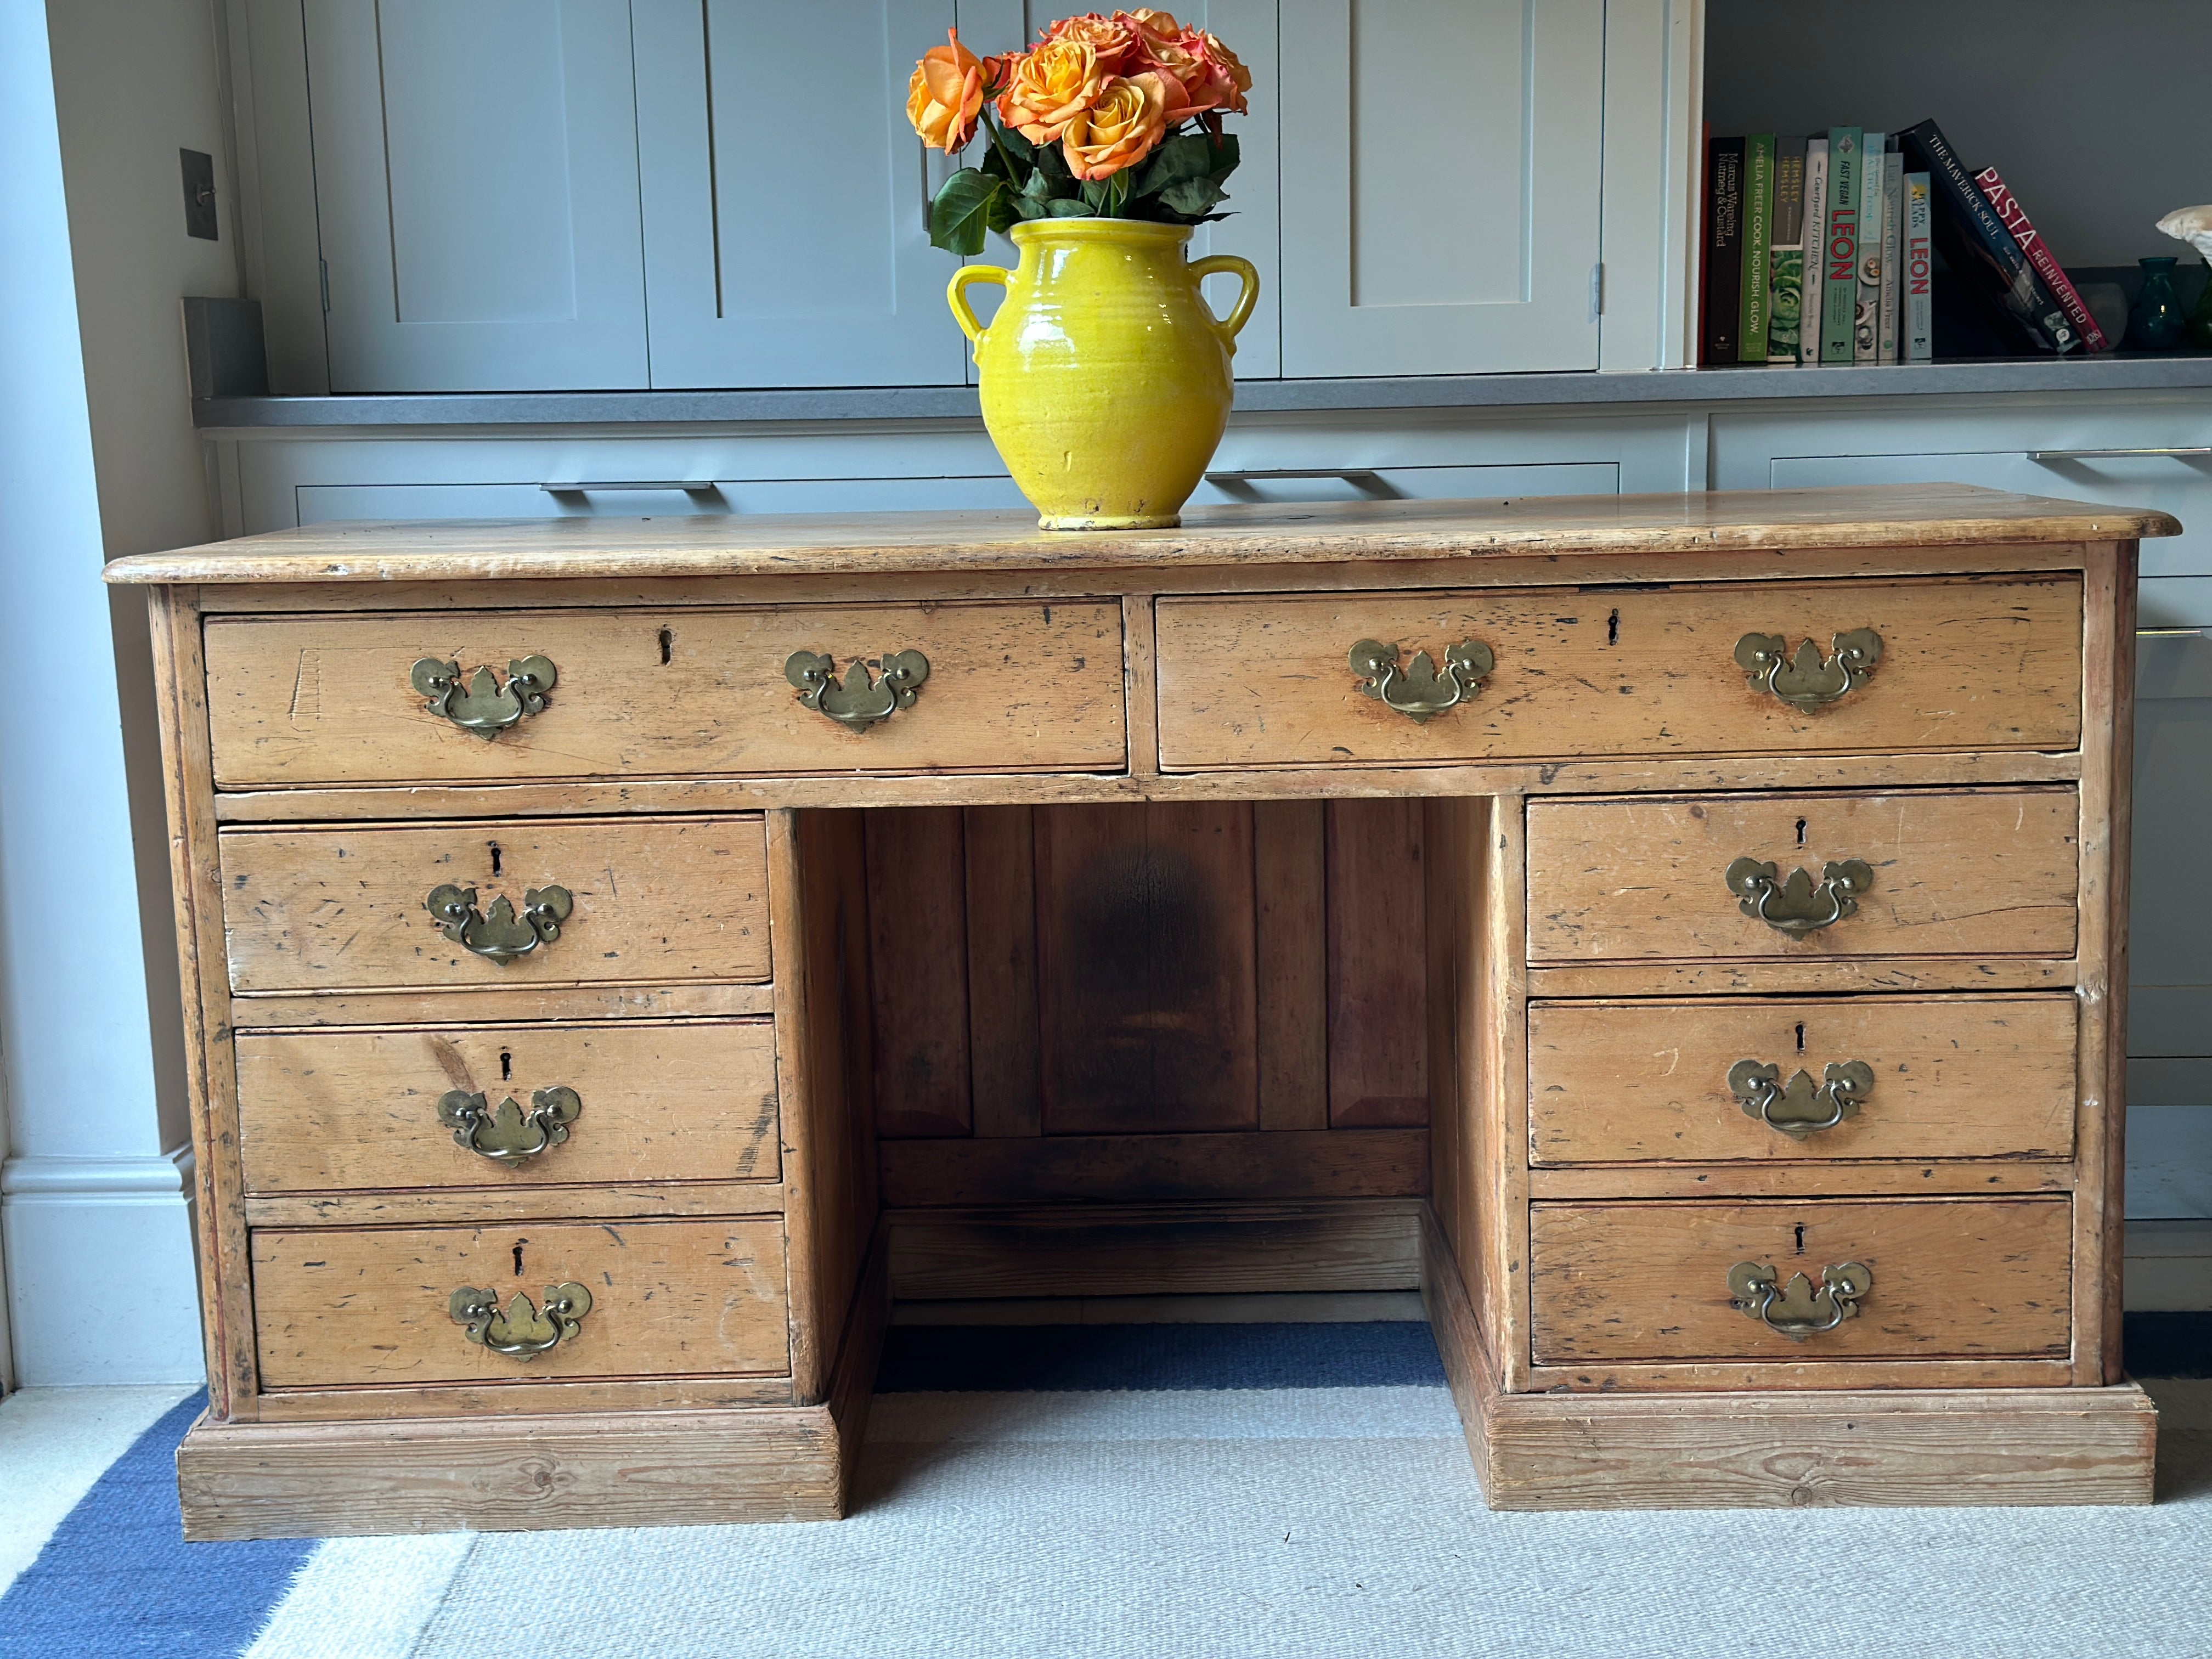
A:
{"label": "reddish-brown horizontal rail directly below the kneehole's back panels", "polygon": [[1429,1133],[1420,1128],[885,1141],[880,1157],[891,1208],[1396,1199],[1429,1190]]}

